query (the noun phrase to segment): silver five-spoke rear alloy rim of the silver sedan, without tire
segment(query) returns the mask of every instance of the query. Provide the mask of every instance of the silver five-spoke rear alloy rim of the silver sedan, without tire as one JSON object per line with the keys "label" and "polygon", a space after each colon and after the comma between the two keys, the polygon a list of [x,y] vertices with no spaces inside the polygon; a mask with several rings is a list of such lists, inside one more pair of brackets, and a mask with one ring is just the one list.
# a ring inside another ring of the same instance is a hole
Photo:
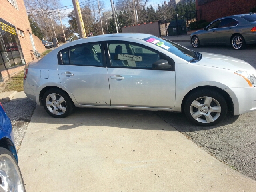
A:
{"label": "silver five-spoke rear alloy rim of the silver sedan, without tire", "polygon": [[46,107],[54,115],[62,115],[67,109],[65,99],[56,93],[51,93],[46,97]]}

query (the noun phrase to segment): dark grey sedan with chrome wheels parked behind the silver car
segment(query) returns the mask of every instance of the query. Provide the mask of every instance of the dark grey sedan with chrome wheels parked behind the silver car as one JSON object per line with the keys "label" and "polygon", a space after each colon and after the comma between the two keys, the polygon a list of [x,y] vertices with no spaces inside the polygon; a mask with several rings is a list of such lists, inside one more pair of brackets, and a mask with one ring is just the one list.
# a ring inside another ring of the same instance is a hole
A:
{"label": "dark grey sedan with chrome wheels parked behind the silver car", "polygon": [[231,45],[235,50],[246,44],[256,44],[256,14],[222,17],[211,22],[204,30],[190,35],[194,48],[201,45]]}

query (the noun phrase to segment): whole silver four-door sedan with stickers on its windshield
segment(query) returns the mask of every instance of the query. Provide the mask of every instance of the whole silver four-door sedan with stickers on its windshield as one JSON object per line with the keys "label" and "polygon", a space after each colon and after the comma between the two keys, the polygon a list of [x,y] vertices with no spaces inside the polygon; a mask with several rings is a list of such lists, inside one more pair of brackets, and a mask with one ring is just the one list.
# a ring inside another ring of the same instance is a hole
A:
{"label": "whole silver four-door sedan with stickers on its windshield", "polygon": [[106,34],[26,64],[24,92],[55,118],[75,107],[184,112],[200,126],[256,110],[256,70],[150,34]]}

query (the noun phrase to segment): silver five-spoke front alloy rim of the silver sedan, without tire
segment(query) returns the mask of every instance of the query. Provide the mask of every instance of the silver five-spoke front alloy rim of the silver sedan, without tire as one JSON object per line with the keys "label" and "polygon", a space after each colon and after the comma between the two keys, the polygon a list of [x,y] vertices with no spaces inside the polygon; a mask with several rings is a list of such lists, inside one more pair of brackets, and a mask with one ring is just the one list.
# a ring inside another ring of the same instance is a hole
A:
{"label": "silver five-spoke front alloy rim of the silver sedan, without tire", "polygon": [[198,122],[211,123],[220,117],[221,106],[212,97],[200,97],[190,105],[190,114]]}

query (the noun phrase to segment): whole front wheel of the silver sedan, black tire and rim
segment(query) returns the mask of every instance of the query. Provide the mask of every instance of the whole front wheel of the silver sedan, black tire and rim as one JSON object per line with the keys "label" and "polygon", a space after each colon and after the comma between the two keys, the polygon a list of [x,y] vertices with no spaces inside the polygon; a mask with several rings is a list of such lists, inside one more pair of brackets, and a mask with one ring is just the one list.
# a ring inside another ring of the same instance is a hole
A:
{"label": "whole front wheel of the silver sedan, black tire and rim", "polygon": [[[212,100],[210,98],[212,98]],[[195,101],[200,104],[200,107],[192,106],[198,104],[193,103]],[[216,112],[213,112],[214,110]],[[220,112],[218,112],[218,110],[220,110]],[[190,93],[184,103],[184,113],[186,117],[199,126],[213,126],[218,124],[226,117],[227,111],[228,107],[224,97],[218,91],[211,89],[196,90]]]}

